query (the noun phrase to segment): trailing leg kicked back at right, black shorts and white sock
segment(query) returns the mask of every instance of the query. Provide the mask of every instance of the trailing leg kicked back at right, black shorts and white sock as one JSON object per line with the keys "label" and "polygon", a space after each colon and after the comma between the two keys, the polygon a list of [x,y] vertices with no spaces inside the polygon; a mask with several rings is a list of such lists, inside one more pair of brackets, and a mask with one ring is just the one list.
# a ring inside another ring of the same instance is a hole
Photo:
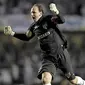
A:
{"label": "trailing leg kicked back at right, black shorts and white sock", "polygon": [[85,85],[85,81],[81,77],[74,75],[68,51],[64,50],[64,53],[59,56],[61,61],[59,67],[65,74],[65,77],[73,84]]}

